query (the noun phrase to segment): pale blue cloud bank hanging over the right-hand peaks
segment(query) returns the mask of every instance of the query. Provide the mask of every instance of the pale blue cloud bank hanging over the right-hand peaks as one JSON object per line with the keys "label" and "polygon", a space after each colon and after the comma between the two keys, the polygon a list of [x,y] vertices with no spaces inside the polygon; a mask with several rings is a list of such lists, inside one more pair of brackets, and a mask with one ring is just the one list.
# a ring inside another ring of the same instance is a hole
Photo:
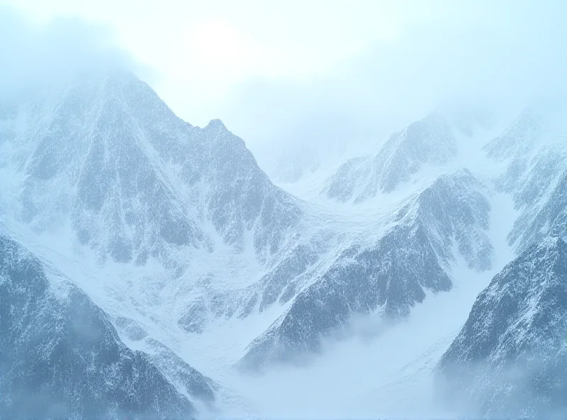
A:
{"label": "pale blue cloud bank hanging over the right-hand peaks", "polygon": [[288,164],[314,169],[325,156],[367,153],[436,109],[498,116],[534,96],[565,92],[563,2],[462,4],[433,7],[437,18],[417,21],[313,79],[249,79],[218,114],[264,170],[293,180],[297,171],[286,171]]}

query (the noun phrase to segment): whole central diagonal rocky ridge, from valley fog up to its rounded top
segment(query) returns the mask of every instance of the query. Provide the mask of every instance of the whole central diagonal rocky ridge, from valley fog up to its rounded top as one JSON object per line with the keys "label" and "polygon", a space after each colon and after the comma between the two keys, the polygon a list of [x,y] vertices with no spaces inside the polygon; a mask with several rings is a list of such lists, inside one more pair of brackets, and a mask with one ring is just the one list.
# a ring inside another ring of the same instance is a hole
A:
{"label": "whole central diagonal rocky ridge, from valley fog up to its rounded top", "polygon": [[451,288],[446,269],[454,259],[454,243],[469,267],[489,268],[490,205],[481,188],[467,170],[439,177],[394,215],[376,241],[347,243],[286,289],[271,290],[273,300],[279,295],[290,306],[250,344],[240,365],[257,368],[318,352],[322,337],[347,327],[356,315],[408,315],[425,299],[425,290]]}

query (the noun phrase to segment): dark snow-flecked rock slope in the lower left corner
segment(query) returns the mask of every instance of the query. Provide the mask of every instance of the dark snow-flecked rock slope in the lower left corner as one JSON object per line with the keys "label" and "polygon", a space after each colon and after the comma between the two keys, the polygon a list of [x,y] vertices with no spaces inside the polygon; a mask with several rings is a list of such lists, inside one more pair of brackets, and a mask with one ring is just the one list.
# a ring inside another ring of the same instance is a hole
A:
{"label": "dark snow-flecked rock slope in the lower left corner", "polygon": [[[0,236],[2,418],[193,418],[191,402],[149,355],[120,342],[84,293],[53,287],[33,255]],[[193,394],[209,399],[202,375],[191,374]]]}

